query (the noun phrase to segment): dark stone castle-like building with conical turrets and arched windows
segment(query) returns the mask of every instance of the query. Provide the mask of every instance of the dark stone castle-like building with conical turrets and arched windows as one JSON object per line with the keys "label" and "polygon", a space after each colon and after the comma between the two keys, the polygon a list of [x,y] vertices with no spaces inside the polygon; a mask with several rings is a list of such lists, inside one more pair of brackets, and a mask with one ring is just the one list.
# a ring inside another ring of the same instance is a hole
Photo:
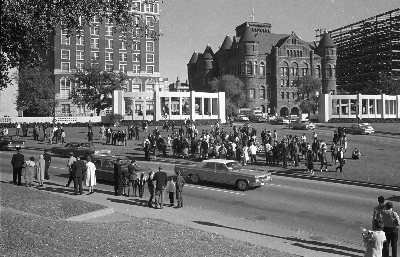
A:
{"label": "dark stone castle-like building with conical turrets and arched windows", "polygon": [[[271,33],[271,24],[245,22],[226,35],[214,53],[208,44],[203,53],[194,51],[188,63],[189,90],[210,91],[214,77],[231,74],[244,82],[249,108],[270,108],[271,115],[299,115],[294,100],[297,76],[322,79],[321,93],[336,94],[336,46],[326,32],[320,43],[305,42],[294,32]],[[276,108],[276,111],[275,111]]]}

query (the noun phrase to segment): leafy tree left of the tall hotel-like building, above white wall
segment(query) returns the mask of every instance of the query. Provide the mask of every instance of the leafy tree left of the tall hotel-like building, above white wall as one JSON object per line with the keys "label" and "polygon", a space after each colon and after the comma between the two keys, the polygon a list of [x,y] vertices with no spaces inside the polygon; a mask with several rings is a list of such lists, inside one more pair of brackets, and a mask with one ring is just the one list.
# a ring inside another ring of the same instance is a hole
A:
{"label": "leafy tree left of the tall hotel-like building, above white wall", "polygon": [[21,66],[13,77],[18,85],[15,101],[18,111],[39,116],[54,113],[57,101],[50,71],[44,67],[33,69]]}

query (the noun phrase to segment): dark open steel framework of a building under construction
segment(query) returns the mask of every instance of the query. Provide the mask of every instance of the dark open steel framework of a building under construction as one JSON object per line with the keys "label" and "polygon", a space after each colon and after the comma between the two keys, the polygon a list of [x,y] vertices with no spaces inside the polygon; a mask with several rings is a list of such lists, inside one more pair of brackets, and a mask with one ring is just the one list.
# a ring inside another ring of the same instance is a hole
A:
{"label": "dark open steel framework of a building under construction", "polygon": [[[316,30],[317,42],[324,36]],[[337,84],[362,93],[380,73],[400,74],[400,8],[328,32],[338,47]]]}

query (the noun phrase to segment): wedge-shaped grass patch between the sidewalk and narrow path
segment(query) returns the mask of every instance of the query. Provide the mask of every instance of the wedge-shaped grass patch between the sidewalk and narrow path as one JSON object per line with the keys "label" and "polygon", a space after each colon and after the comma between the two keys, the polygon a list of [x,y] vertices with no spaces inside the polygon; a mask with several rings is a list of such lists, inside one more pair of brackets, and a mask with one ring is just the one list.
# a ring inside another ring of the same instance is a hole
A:
{"label": "wedge-shaped grass patch between the sidewalk and narrow path", "polygon": [[51,219],[66,219],[106,208],[106,206],[99,204],[42,192],[36,189],[36,187],[26,188],[25,186],[14,186],[6,183],[2,183],[0,195],[1,205],[4,207]]}

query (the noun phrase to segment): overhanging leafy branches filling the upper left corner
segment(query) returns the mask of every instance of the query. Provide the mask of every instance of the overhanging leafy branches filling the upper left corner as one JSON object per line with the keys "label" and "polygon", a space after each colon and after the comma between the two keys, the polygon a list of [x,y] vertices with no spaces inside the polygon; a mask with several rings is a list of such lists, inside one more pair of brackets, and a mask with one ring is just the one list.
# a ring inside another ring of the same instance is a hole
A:
{"label": "overhanging leafy branches filling the upper left corner", "polygon": [[[162,1],[142,0],[143,4],[162,4]],[[100,23],[109,21],[114,32],[122,32],[132,44],[136,30],[141,38],[158,40],[162,34],[147,30],[149,25],[136,24],[130,12],[136,9],[132,0],[3,0],[1,4],[1,65],[0,90],[11,83],[9,69],[26,64],[38,67],[44,54],[54,50],[49,35],[66,30],[69,36],[80,35],[84,26],[96,16]],[[129,7],[129,8],[127,8]]]}

